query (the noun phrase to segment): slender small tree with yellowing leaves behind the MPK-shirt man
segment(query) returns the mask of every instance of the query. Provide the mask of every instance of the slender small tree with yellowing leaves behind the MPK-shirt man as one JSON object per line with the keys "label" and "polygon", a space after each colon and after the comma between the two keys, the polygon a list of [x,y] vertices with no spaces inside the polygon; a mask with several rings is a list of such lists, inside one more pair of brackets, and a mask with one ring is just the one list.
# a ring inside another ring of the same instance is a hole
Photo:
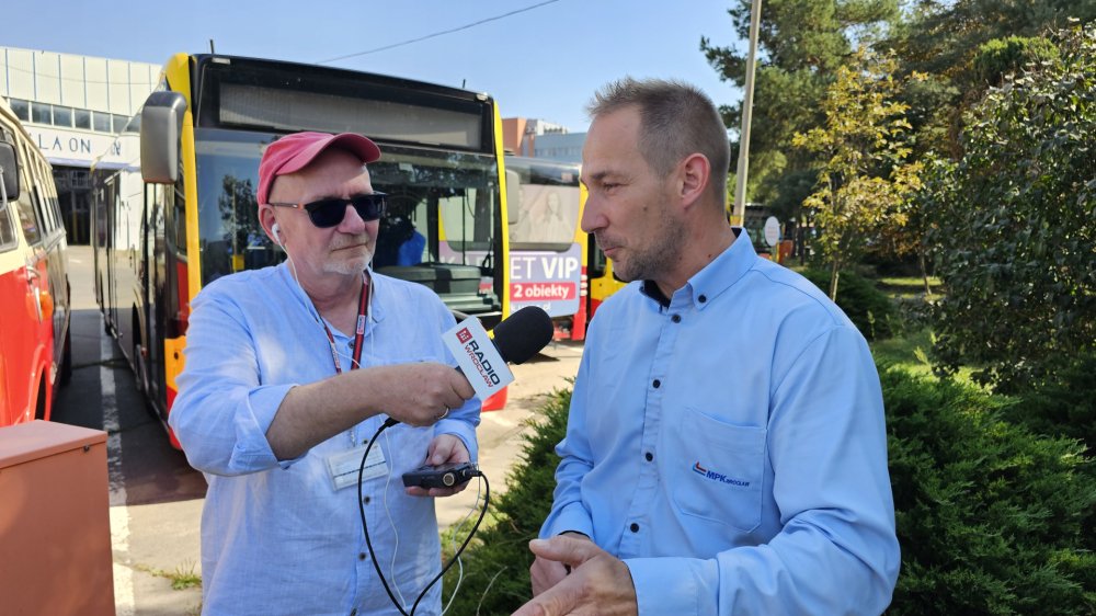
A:
{"label": "slender small tree with yellowing leaves behind the MPK-shirt man", "polygon": [[831,263],[830,299],[837,297],[841,267],[855,263],[865,242],[906,221],[910,194],[920,189],[920,163],[907,163],[906,105],[894,101],[902,84],[897,62],[860,47],[850,66],[837,69],[822,110],[823,126],[794,144],[822,155],[818,190],[806,205],[822,228],[817,242]]}

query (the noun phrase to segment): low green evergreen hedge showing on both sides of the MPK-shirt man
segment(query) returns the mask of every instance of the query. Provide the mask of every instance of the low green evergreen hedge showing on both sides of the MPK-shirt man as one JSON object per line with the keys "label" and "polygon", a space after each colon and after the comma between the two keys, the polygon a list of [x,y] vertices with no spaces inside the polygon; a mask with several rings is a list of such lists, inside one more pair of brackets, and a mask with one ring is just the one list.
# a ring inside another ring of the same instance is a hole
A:
{"label": "low green evergreen hedge showing on both sides of the MPK-shirt man", "polygon": [[[900,368],[880,378],[902,546],[887,614],[1096,613],[1096,556],[1085,549],[1096,477],[1083,446],[1002,421],[1015,400],[973,386]],[[494,524],[465,552],[450,614],[509,615],[532,597],[527,541],[551,506],[569,403],[558,391],[541,409]],[[455,569],[446,601],[454,583]]]}

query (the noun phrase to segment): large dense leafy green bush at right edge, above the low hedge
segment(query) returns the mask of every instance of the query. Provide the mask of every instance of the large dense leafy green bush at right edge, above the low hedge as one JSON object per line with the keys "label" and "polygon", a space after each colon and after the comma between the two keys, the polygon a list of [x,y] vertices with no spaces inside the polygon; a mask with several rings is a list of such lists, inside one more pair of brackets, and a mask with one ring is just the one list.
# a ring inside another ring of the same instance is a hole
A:
{"label": "large dense leafy green bush at right edge, above the low hedge", "polygon": [[1096,30],[1058,47],[971,110],[964,156],[935,160],[921,197],[948,287],[939,369],[1001,390],[1096,349]]}

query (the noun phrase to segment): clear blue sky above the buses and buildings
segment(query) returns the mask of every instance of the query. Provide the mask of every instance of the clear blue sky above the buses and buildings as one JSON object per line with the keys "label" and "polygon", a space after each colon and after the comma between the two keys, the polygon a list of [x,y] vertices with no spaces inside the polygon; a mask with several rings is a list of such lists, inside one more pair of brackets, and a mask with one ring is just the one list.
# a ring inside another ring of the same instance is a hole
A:
{"label": "clear blue sky above the buses and buildings", "polygon": [[[162,64],[179,52],[319,61],[399,43],[543,0],[142,0],[8,2],[11,47]],[[504,117],[589,124],[582,107],[606,81],[676,77],[716,104],[741,100],[699,50],[737,44],[732,0],[559,0],[422,43],[335,62],[491,93]],[[178,10],[173,10],[178,9]],[[15,26],[18,24],[18,27]]]}

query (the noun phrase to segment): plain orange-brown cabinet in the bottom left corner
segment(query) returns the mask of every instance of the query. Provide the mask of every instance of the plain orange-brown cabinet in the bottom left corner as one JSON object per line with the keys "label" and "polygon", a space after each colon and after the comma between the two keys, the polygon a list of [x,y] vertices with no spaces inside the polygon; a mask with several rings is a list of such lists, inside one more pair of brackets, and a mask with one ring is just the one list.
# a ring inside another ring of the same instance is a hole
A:
{"label": "plain orange-brown cabinet in the bottom left corner", "polygon": [[0,427],[0,597],[11,616],[114,615],[105,432]]}

